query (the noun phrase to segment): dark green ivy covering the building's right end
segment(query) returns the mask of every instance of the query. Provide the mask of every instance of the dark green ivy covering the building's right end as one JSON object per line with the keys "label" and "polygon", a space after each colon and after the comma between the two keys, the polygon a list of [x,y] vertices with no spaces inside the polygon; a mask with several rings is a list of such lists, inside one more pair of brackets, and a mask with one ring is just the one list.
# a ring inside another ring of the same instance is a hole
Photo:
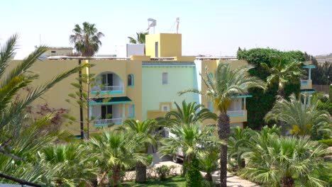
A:
{"label": "dark green ivy covering the building's right end", "polygon": [[[270,66],[271,57],[281,57],[288,60],[298,60],[304,62],[306,55],[300,51],[288,51],[282,52],[275,49],[263,49],[256,48],[252,50],[238,50],[237,55],[239,60],[247,60],[249,64],[255,65],[254,69],[250,69],[250,74],[256,77],[260,77],[262,80],[266,80],[270,73],[267,69],[260,66],[261,63],[265,63]],[[262,89],[249,89],[249,94],[253,95],[252,98],[247,99],[247,111],[248,122],[247,126],[253,129],[262,128],[262,121],[268,111],[272,109],[273,103],[275,103],[275,96],[277,96],[277,84],[272,84],[264,92]],[[289,83],[284,88],[286,97],[290,94],[299,94],[300,84],[299,81]]]}

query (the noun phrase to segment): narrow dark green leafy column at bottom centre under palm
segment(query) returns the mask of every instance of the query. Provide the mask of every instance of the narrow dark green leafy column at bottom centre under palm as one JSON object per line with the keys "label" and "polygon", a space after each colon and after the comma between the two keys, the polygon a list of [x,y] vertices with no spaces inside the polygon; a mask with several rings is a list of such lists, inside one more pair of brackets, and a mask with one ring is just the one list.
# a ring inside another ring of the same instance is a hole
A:
{"label": "narrow dark green leafy column at bottom centre under palm", "polygon": [[192,159],[192,162],[188,164],[186,174],[186,186],[199,187],[201,186],[201,173],[199,172],[199,160],[197,158]]}

